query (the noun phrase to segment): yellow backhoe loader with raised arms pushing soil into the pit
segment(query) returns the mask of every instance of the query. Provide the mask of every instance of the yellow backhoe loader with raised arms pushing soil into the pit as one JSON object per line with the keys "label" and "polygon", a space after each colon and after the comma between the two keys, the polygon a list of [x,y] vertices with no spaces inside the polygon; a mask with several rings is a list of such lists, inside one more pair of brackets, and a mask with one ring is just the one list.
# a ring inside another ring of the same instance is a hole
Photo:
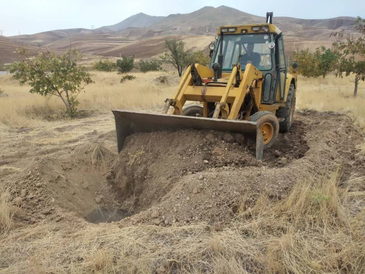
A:
{"label": "yellow backhoe loader with raised arms pushing soil into the pit", "polygon": [[[266,23],[220,26],[209,45],[210,65],[187,67],[161,114],[114,109],[118,151],[134,132],[211,129],[256,141],[256,158],[278,132],[287,132],[295,110],[296,72],[288,73],[283,33]],[[296,71],[297,63],[292,64]],[[200,102],[188,105],[185,102]]]}

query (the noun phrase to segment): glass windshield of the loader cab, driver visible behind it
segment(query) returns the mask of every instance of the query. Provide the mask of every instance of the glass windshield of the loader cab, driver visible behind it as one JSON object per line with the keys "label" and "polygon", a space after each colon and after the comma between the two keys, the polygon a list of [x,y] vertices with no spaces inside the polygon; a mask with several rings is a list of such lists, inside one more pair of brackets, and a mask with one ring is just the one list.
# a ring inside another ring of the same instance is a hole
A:
{"label": "glass windshield of the loader cab, driver visible behind it", "polygon": [[[240,64],[245,70],[248,63],[259,70],[271,69],[271,52],[268,44],[270,34],[224,34],[223,35],[223,70],[231,70],[233,64]],[[218,62],[220,43],[216,49],[214,63]]]}

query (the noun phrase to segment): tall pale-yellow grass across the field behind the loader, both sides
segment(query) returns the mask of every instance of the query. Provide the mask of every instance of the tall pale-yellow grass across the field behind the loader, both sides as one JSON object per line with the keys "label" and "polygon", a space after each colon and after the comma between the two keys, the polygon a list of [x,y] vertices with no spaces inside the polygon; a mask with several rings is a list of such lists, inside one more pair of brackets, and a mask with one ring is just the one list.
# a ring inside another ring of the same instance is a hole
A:
{"label": "tall pale-yellow grass across the field behind the loader, both sides", "polygon": [[[162,72],[134,73],[137,78],[125,83],[119,83],[120,75],[115,72],[91,73],[95,84],[87,86],[86,92],[80,94],[79,109],[157,108],[175,88],[155,81]],[[178,81],[176,74],[168,75]],[[358,96],[354,98],[350,80],[351,77],[341,79],[334,75],[324,79],[299,77],[297,108],[348,113],[364,127],[365,84],[359,84]],[[0,126],[37,126],[51,114],[64,110],[59,98],[30,94],[28,86],[20,86],[10,75],[0,77],[0,88],[8,95],[0,97]]]}

